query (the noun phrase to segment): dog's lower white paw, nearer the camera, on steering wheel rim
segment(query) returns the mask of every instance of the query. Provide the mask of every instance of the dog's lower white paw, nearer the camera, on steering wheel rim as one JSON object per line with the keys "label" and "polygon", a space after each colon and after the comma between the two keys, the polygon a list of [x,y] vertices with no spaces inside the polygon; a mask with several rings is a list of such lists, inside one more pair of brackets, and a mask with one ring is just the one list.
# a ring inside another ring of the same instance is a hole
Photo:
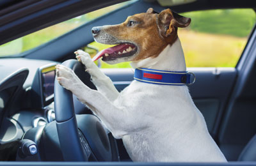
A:
{"label": "dog's lower white paw, nearer the camera, on steering wheel rim", "polygon": [[72,88],[76,87],[76,84],[81,82],[73,70],[61,64],[56,65],[56,77],[60,85],[70,91],[72,91]]}

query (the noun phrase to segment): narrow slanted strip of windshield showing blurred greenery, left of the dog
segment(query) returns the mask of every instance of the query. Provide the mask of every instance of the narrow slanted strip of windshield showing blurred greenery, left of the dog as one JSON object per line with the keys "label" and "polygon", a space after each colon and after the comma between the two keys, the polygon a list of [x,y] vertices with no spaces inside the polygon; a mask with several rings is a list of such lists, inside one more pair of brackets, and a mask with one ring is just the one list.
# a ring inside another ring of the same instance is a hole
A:
{"label": "narrow slanted strip of windshield showing blurred greenery, left of the dog", "polygon": [[0,57],[12,55],[14,56],[27,50],[34,49],[35,47],[47,43],[54,38],[58,38],[58,36],[61,36],[62,34],[65,34],[68,31],[71,31],[72,29],[75,29],[76,27],[79,27],[90,20],[96,19],[97,17],[109,13],[110,11],[116,10],[117,8],[120,8],[126,4],[127,2],[119,3],[113,6],[102,8],[100,10],[95,10],[74,19],[61,22],[60,24],[36,31],[35,33],[28,34],[22,38],[18,38],[17,40],[5,43],[4,45],[0,45]]}

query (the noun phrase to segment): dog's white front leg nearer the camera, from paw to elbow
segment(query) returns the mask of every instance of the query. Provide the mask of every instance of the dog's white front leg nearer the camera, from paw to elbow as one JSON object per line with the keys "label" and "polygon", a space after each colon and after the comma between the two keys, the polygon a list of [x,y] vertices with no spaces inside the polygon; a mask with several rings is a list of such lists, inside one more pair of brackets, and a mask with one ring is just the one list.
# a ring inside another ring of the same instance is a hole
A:
{"label": "dog's white front leg nearer the camera, from paw to elbow", "polygon": [[99,91],[87,87],[70,68],[58,64],[56,71],[57,80],[61,86],[72,91],[81,102],[88,105],[104,122],[115,138],[122,138],[132,128],[132,125],[128,124],[129,121],[126,121],[127,117],[129,117],[127,116],[127,109],[116,107],[113,102],[109,102],[106,96],[103,96]]}

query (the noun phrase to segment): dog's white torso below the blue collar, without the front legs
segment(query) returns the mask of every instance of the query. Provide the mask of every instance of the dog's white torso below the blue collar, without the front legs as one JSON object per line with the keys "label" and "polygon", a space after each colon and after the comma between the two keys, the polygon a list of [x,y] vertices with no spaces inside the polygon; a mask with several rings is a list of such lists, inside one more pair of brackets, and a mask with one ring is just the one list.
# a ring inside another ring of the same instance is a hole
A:
{"label": "dog's white torso below the blue collar, without the front legs", "polygon": [[210,154],[216,161],[225,160],[186,86],[133,81],[115,102],[129,112],[134,131],[122,139],[134,162],[206,161]]}

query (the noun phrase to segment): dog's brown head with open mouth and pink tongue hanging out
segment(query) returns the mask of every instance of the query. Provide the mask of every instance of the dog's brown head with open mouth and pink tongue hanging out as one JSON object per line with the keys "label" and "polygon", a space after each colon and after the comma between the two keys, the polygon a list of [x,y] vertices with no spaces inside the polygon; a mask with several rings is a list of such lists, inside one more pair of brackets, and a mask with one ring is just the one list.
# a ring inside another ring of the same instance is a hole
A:
{"label": "dog's brown head with open mouth and pink tongue hanging out", "polygon": [[168,44],[177,40],[177,28],[189,26],[191,19],[170,9],[157,13],[149,8],[146,13],[127,17],[125,22],[113,26],[93,27],[95,41],[116,45],[102,50],[93,59],[109,64],[140,61],[156,57]]}

